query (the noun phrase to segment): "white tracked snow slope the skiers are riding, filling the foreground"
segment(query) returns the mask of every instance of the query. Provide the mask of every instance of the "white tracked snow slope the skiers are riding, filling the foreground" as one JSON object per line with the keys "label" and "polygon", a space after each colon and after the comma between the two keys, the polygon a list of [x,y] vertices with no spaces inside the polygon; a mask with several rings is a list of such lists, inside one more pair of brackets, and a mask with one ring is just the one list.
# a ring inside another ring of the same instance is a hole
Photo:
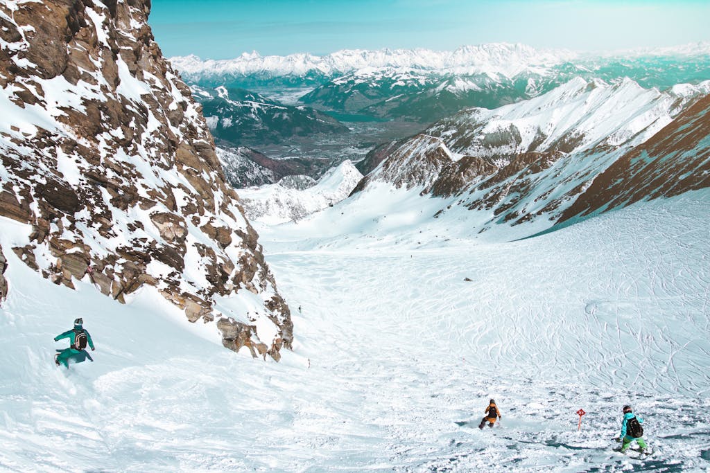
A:
{"label": "white tracked snow slope the skiers are riding, filling the foreground", "polygon": [[[7,222],[0,469],[707,471],[709,204],[695,192],[507,243],[404,217],[388,245],[261,228],[295,323],[280,363],[225,350],[150,288],[122,306],[41,279],[10,250],[29,228]],[[52,338],[77,316],[95,362],[59,369]],[[503,420],[479,430],[490,398]],[[623,404],[645,418],[645,460],[611,450]]]}

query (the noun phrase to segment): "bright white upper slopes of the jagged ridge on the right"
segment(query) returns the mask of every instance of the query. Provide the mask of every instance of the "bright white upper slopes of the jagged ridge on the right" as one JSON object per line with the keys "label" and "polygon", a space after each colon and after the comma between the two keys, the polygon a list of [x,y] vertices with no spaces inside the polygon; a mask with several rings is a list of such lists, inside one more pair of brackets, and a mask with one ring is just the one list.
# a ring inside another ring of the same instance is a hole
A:
{"label": "bright white upper slopes of the jagged ridge on the right", "polygon": [[[518,104],[459,113],[452,121],[469,128],[467,133],[449,130],[450,121],[433,126],[430,133],[446,137],[455,152],[472,156],[541,151],[559,148],[563,142],[560,150],[564,152],[601,143],[638,145],[670,123],[682,104],[708,93],[709,88],[710,81],[706,81],[659,91],[644,89],[628,78],[610,84],[575,77],[547,94]],[[510,140],[501,141],[508,135]],[[493,140],[493,136],[498,138]]]}

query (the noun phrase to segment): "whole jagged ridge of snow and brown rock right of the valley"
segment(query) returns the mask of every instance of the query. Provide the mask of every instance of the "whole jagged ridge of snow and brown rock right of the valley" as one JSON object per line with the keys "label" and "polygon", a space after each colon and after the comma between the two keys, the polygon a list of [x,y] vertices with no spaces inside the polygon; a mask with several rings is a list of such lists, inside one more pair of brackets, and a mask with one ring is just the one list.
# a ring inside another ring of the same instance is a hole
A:
{"label": "whole jagged ridge of snow and brown rock right of the valley", "polygon": [[[630,79],[613,84],[573,79],[518,104],[462,111],[379,148],[368,157],[368,166],[376,167],[356,191],[386,182],[447,199],[438,216],[452,205],[474,211],[478,231],[530,222],[542,230],[626,153],[682,123],[674,122],[679,114],[683,120],[700,119],[692,104],[709,92],[710,81],[659,91]],[[697,146],[703,139],[700,134],[692,147],[691,154],[700,157],[690,168],[665,162],[658,169],[667,172],[645,179],[680,179],[700,166],[704,158]],[[689,143],[680,133],[666,141],[668,150]]]}

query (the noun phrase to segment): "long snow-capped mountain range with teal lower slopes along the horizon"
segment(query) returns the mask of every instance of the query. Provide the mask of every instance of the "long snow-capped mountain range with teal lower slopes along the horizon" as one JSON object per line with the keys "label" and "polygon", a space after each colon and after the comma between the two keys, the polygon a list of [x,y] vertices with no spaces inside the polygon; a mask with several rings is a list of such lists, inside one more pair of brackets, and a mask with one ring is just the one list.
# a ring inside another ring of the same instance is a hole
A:
{"label": "long snow-capped mountain range with teal lower slopes along the horizon", "polygon": [[268,89],[309,87],[300,101],[323,111],[431,123],[462,108],[497,108],[530,99],[574,77],[623,77],[667,89],[710,77],[710,43],[580,54],[520,44],[454,51],[344,50],[331,55],[243,54],[234,60],[173,57],[190,84]]}

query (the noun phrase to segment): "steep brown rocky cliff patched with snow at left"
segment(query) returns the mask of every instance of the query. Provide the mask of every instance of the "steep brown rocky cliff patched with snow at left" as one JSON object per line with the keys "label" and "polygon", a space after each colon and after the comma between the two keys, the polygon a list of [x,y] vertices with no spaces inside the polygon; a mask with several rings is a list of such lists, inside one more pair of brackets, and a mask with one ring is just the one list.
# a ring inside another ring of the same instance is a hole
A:
{"label": "steep brown rocky cliff patched with snow at left", "polygon": [[[226,347],[278,359],[288,306],[149,10],[0,0],[0,226],[31,227],[3,251],[118,301],[154,286],[190,321],[216,322]],[[218,311],[217,297],[240,310]]]}

